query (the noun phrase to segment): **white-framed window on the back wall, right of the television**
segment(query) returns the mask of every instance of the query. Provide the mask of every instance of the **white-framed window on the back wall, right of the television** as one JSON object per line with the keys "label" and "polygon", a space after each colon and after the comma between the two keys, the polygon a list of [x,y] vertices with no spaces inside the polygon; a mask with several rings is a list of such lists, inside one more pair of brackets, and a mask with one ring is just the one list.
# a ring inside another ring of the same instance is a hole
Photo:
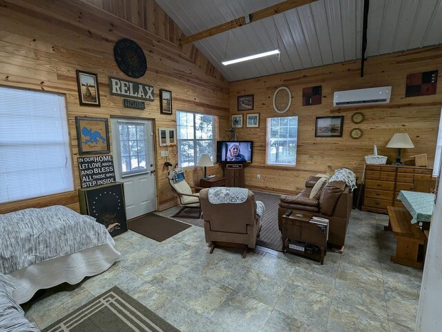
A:
{"label": "white-framed window on the back wall, right of the television", "polygon": [[267,164],[296,165],[298,116],[267,118]]}

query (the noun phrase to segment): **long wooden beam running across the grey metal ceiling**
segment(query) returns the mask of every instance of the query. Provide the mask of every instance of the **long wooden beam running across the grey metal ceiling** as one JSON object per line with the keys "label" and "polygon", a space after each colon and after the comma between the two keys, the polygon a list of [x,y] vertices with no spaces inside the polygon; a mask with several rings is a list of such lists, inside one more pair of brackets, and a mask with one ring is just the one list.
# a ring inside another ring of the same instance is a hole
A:
{"label": "long wooden beam running across the grey metal ceiling", "polygon": [[226,32],[235,28],[239,28],[242,25],[246,25],[248,23],[259,21],[260,19],[266,19],[267,17],[271,17],[276,14],[280,14],[281,12],[286,12],[287,10],[291,10],[294,8],[298,8],[300,6],[307,5],[307,3],[312,3],[317,0],[287,0],[281,3],[277,3],[276,5],[264,8],[262,10],[258,10],[257,12],[252,12],[251,14],[247,14],[242,17],[238,17],[238,19],[233,19],[229,22],[222,23],[220,25],[216,25],[213,28],[206,29],[201,32],[197,32],[195,34],[191,34],[187,37],[182,37],[180,39],[181,45],[186,45],[189,43],[193,43],[194,41],[199,41],[201,39],[214,36],[215,34],[220,34],[221,32]]}

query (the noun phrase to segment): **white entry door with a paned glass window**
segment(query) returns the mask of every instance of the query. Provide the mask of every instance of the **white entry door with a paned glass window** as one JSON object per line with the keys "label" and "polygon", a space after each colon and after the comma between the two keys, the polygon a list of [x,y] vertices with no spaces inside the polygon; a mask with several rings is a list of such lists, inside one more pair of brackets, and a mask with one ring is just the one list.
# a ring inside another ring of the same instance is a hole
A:
{"label": "white entry door with a paned glass window", "polygon": [[129,219],[157,208],[151,120],[111,118],[115,176],[124,183]]}

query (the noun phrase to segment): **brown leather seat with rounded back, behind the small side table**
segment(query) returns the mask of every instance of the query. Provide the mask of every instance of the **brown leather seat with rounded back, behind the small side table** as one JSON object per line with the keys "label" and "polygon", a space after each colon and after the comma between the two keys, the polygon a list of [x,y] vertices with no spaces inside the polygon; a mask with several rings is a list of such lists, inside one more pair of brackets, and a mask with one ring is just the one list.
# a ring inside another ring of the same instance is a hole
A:
{"label": "brown leather seat with rounded back, behind the small side table", "polygon": [[278,225],[281,230],[282,215],[288,210],[305,211],[314,216],[329,220],[328,245],[342,248],[345,242],[347,225],[352,211],[352,193],[344,182],[333,181],[327,183],[320,191],[318,199],[309,198],[311,189],[320,179],[310,176],[305,181],[305,189],[298,195],[282,195],[278,209]]}

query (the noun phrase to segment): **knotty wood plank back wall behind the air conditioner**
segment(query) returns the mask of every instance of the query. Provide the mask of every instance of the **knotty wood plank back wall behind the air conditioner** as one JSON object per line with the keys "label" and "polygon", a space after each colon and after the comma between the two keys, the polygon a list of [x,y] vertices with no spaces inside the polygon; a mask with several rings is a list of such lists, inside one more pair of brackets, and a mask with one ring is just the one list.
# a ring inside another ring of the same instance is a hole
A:
{"label": "knotty wood plank back wall behind the air conditioner", "polygon": [[[281,193],[300,191],[307,176],[325,173],[327,165],[348,167],[361,182],[364,156],[388,156],[388,163],[396,159],[397,149],[385,147],[396,132],[406,132],[414,149],[402,149],[402,159],[415,154],[427,154],[429,167],[434,163],[439,117],[442,107],[442,47],[423,48],[369,58],[361,78],[361,62],[351,61],[286,74],[230,83],[230,114],[260,113],[259,128],[239,128],[238,139],[253,140],[253,163],[245,169],[245,183],[249,188]],[[439,70],[436,94],[405,98],[407,74]],[[302,88],[322,85],[322,103],[302,106]],[[392,85],[392,98],[386,105],[365,107],[333,107],[336,91]],[[273,111],[273,93],[278,87],[291,90],[292,103],[285,114]],[[254,109],[237,111],[237,96],[253,94]],[[355,112],[363,112],[365,121],[352,123]],[[315,138],[316,116],[344,116],[342,138]],[[270,166],[265,163],[266,121],[275,116],[298,116],[298,148],[295,167]],[[363,136],[350,138],[353,128],[361,128]],[[260,174],[260,179],[257,175]]]}

